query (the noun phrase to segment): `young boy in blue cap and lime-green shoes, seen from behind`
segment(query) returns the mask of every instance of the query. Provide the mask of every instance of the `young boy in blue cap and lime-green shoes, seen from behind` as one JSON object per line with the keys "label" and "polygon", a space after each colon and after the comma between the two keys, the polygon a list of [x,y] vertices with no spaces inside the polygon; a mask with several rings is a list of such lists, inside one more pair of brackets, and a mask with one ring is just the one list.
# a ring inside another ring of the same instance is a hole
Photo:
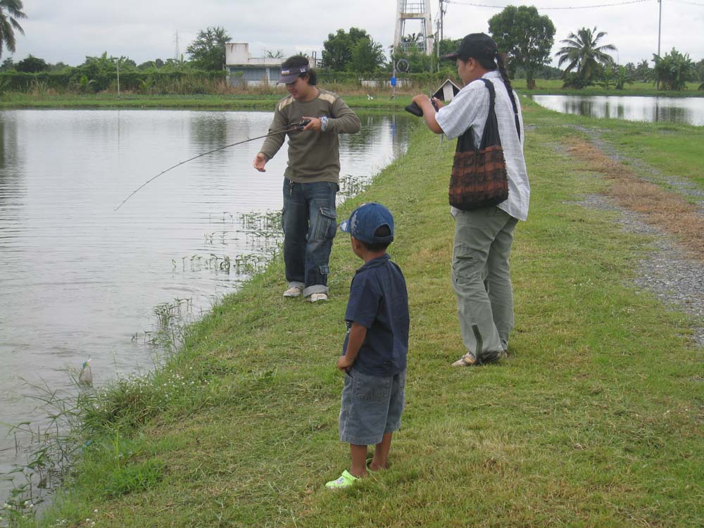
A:
{"label": "young boy in blue cap and lime-green shoes, seen from behind", "polygon": [[408,352],[408,292],[386,248],[394,240],[394,217],[381,203],[354,210],[340,230],[364,260],[352,279],[345,320],[347,335],[337,368],[345,372],[340,440],[350,444],[352,467],[328,489],[342,489],[367,474],[367,445],[375,444],[370,471],[386,468],[391,435],[401,427]]}

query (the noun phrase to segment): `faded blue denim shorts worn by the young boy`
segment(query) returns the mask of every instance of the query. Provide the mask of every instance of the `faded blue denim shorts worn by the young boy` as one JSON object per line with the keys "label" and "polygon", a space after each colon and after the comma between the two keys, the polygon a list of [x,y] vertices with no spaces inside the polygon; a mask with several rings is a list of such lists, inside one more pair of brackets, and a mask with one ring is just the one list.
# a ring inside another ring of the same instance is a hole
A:
{"label": "faded blue denim shorts worn by the young boy", "polygon": [[379,444],[385,433],[401,429],[405,385],[405,369],[394,376],[372,376],[353,366],[342,389],[340,440],[370,446]]}

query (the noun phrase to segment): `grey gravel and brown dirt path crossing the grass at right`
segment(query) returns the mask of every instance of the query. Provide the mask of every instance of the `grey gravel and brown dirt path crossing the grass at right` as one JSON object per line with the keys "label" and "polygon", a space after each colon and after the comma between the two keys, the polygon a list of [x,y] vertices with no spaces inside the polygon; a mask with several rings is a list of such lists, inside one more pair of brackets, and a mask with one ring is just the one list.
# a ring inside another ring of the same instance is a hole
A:
{"label": "grey gravel and brown dirt path crossing the grass at right", "polygon": [[[623,156],[598,131],[580,130],[589,142],[572,142],[570,155],[612,180],[608,195],[587,196],[581,205],[616,212],[624,230],[653,237],[655,250],[639,263],[636,286],[691,315],[693,339],[704,346],[704,192]],[[676,191],[665,191],[663,183]]]}

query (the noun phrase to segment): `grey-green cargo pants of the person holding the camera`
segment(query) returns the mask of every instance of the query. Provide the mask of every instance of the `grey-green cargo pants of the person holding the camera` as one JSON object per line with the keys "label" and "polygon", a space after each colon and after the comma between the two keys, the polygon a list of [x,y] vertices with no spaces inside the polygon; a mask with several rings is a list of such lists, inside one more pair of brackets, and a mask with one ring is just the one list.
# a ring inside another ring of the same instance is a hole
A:
{"label": "grey-green cargo pants of the person holding the camera", "polygon": [[458,211],[452,284],[467,351],[491,360],[508,348],[513,287],[508,259],[518,220],[497,207]]}

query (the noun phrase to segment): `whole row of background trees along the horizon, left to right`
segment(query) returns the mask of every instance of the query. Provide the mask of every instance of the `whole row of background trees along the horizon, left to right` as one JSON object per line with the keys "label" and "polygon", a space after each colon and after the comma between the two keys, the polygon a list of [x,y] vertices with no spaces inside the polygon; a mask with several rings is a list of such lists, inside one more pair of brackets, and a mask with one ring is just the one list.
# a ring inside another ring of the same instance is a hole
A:
{"label": "whole row of background trees along the horizon, left to right", "polygon": [[[18,20],[26,18],[21,0],[0,1],[0,57],[4,48],[15,51],[15,31],[24,33]],[[551,50],[555,43],[555,26],[546,15],[540,15],[533,6],[508,6],[489,19],[489,34],[508,58],[512,77],[524,78],[529,89],[536,87],[536,78],[561,78],[565,88],[584,88],[598,84],[606,89],[624,89],[636,81],[654,82],[659,89],[680,90],[687,82],[702,82],[704,89],[704,59],[695,63],[689,54],[676,49],[662,56],[653,54],[650,61],[643,59],[638,65],[617,64],[611,53],[617,51],[612,44],[603,44],[606,32],[596,27],[582,27],[562,39],[562,47],[555,54],[558,68],[550,64]],[[13,75],[11,80],[0,80],[3,89],[22,89],[34,82],[54,87],[74,89],[78,92],[99,92],[111,87],[118,70],[126,89],[143,93],[176,93],[189,89],[189,84],[202,87],[202,82],[224,82],[225,44],[231,37],[225,28],[207,27],[198,32],[194,42],[186,49],[184,57],[162,60],[155,58],[137,64],[127,57],[86,57],[84,63],[69,66],[64,63],[49,64],[42,58],[27,56],[15,63],[6,58],[0,72],[31,74]],[[436,42],[439,55],[457,49],[459,39],[442,39]],[[421,34],[403,37],[401,49],[390,46],[387,58],[383,46],[366,30],[350,27],[329,33],[322,43],[322,69],[333,73],[358,76],[379,76],[400,70],[403,73],[439,72],[451,76],[454,65],[448,61],[438,63],[436,56],[425,53]],[[282,57],[282,51],[266,51],[270,57]],[[653,63],[651,67],[649,62]],[[401,67],[402,66],[402,67]],[[564,69],[562,69],[564,67]],[[41,77],[37,75],[42,74]],[[184,79],[196,80],[184,82]],[[62,84],[63,83],[63,84]]]}

